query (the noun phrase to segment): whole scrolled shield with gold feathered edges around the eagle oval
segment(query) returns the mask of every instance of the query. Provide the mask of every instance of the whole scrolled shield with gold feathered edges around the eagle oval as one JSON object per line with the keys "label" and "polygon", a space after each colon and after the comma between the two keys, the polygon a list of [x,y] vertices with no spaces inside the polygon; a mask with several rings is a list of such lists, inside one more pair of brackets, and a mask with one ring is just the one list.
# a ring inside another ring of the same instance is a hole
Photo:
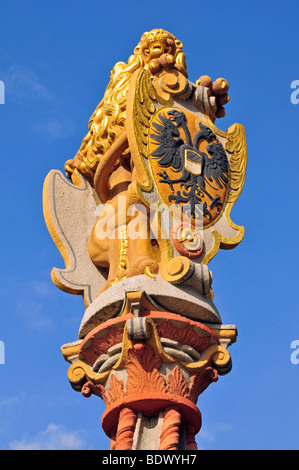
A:
{"label": "whole scrolled shield with gold feathered edges around the eagle oval", "polygon": [[[218,129],[215,98],[178,71],[153,79],[139,71],[129,93],[127,132],[138,173],[136,200],[171,215],[170,258],[207,264],[219,248],[235,247],[244,235],[244,228],[230,219],[245,179],[244,128]],[[161,233],[169,233],[163,215],[160,224]]]}

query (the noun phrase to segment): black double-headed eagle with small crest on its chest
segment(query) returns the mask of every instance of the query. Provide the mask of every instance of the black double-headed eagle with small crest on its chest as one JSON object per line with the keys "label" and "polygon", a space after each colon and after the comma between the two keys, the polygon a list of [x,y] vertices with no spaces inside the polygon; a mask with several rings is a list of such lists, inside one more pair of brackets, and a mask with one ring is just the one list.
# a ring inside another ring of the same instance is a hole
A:
{"label": "black double-headed eagle with small crest on its chest", "polygon": [[[209,189],[223,190],[228,183],[228,159],[223,145],[201,121],[192,139],[183,111],[171,109],[166,115],[160,112],[158,119],[160,124],[153,123],[156,133],[150,137],[159,143],[151,153],[163,169],[158,173],[159,183],[168,184],[172,191],[179,184],[176,194],[168,196],[169,202],[188,204],[193,219],[204,217],[210,221],[211,211],[216,208],[220,213],[223,200],[219,194],[212,195]],[[184,138],[180,137],[180,129]],[[200,150],[202,142],[206,143],[205,151]],[[170,178],[167,168],[171,168],[178,177]]]}

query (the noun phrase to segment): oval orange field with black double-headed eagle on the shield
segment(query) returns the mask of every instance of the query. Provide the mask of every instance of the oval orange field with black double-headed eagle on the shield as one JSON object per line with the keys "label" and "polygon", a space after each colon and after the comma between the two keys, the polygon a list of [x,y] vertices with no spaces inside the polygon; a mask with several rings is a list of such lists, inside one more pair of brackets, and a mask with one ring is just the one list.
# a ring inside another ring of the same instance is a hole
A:
{"label": "oval orange field with black double-headed eagle on the shield", "polygon": [[205,227],[222,212],[228,158],[213,131],[194,113],[159,109],[150,124],[149,163],[161,200],[188,207],[190,222]]}

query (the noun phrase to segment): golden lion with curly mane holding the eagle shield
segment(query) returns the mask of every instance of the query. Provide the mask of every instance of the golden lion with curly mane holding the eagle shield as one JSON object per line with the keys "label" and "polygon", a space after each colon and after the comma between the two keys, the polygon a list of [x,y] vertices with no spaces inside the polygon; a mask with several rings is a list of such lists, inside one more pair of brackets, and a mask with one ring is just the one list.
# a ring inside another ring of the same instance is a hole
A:
{"label": "golden lion with curly mane holding the eagle shield", "polygon": [[[142,71],[143,75],[138,75]],[[138,103],[137,98],[141,92],[136,92],[137,76],[139,76],[138,86],[143,84],[145,88],[144,96]],[[81,173],[96,190],[100,201],[105,204],[88,242],[88,252],[93,263],[108,269],[107,282],[102,291],[115,282],[138,274],[155,277],[165,268],[164,261],[169,261],[173,256],[169,254],[172,250],[169,240],[162,241],[150,236],[148,204],[146,204],[146,213],[143,214],[144,220],[142,218],[139,220],[142,236],[133,240],[128,236],[130,223],[136,216],[130,214],[128,209],[132,204],[144,203],[145,199],[136,187],[139,185],[140,188],[144,188],[146,179],[142,176],[143,170],[140,169],[144,163],[141,165],[133,155],[132,141],[143,139],[142,132],[137,135],[138,123],[134,124],[136,114],[139,113],[138,119],[148,132],[150,118],[156,111],[154,102],[159,102],[159,106],[162,107],[173,106],[176,103],[173,100],[174,96],[178,96],[180,103],[184,104],[184,100],[191,100],[189,97],[196,95],[194,91],[196,87],[205,90],[209,103],[212,103],[211,98],[214,97],[213,110],[209,111],[210,120],[207,121],[209,125],[213,127],[216,117],[224,115],[223,105],[229,100],[226,80],[218,79],[213,82],[204,75],[197,80],[196,85],[193,85],[187,78],[181,41],[162,29],[144,33],[128,63],[118,62],[114,66],[104,97],[90,118],[89,132],[76,156],[65,164],[67,177],[74,184],[80,184],[77,175],[78,172]],[[196,99],[192,98],[192,103],[197,103],[197,107],[198,103],[201,103],[200,106],[205,109],[199,93],[196,96]],[[128,106],[130,116],[128,116]],[[142,108],[141,112],[138,111],[138,107]],[[207,111],[202,113],[208,114]],[[128,124],[129,121],[131,124]],[[213,127],[214,131],[215,129]],[[146,139],[148,136],[149,134]],[[138,152],[135,151],[136,153]],[[147,178],[150,181],[153,176]],[[121,207],[120,201],[123,201]],[[113,217],[109,216],[111,210]],[[106,237],[102,236],[103,228],[108,234]],[[203,257],[204,255],[205,252]],[[179,272],[180,268],[175,268],[176,270]]]}

